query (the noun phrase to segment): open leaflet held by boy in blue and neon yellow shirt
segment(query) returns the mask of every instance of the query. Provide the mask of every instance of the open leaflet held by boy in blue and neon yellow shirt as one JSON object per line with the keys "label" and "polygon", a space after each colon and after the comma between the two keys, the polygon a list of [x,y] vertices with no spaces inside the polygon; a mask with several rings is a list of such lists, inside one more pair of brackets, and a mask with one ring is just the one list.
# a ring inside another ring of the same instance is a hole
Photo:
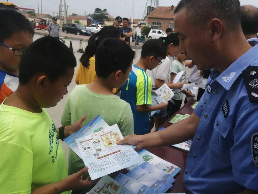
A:
{"label": "open leaflet held by boy in blue and neon yellow shirt", "polygon": [[[168,100],[170,100],[173,96],[174,93],[171,91],[171,89],[167,86],[166,83],[164,83],[159,89],[155,90],[156,94],[151,93],[151,98],[152,98],[152,105],[151,106],[156,106],[162,102],[166,103]],[[150,115],[154,115],[154,113],[157,111],[152,111]]]}

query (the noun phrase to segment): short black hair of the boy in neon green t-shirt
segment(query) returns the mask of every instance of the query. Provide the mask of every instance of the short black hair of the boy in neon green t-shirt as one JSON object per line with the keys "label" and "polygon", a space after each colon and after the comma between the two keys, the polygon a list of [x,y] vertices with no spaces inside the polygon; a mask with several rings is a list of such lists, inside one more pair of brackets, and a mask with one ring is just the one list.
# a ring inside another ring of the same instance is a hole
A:
{"label": "short black hair of the boy in neon green t-shirt", "polygon": [[21,57],[19,82],[27,84],[37,73],[46,73],[53,82],[76,67],[72,51],[59,40],[46,36],[34,41]]}

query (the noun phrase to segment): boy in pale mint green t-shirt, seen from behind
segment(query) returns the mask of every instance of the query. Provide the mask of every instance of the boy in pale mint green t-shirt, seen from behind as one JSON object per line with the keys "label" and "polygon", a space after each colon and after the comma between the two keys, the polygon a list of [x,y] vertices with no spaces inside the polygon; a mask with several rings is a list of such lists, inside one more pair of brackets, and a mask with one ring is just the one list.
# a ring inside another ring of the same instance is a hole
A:
{"label": "boy in pale mint green t-shirt, seen from behind", "polygon": [[[95,55],[96,79],[71,91],[62,114],[62,125],[71,125],[85,114],[87,118],[83,124],[86,125],[100,115],[109,126],[117,124],[123,136],[133,134],[131,106],[115,96],[112,89],[121,87],[127,81],[134,55],[130,46],[118,38],[103,40]],[[83,160],[70,149],[68,174],[84,166]]]}

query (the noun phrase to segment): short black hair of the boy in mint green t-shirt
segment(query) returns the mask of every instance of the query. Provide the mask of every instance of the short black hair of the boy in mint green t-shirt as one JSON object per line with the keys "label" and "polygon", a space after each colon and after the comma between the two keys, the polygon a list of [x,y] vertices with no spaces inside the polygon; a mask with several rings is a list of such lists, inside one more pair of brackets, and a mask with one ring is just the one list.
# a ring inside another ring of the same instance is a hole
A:
{"label": "short black hair of the boy in mint green t-shirt", "polygon": [[95,55],[95,70],[98,77],[106,78],[114,71],[126,73],[133,61],[135,52],[118,38],[105,38]]}

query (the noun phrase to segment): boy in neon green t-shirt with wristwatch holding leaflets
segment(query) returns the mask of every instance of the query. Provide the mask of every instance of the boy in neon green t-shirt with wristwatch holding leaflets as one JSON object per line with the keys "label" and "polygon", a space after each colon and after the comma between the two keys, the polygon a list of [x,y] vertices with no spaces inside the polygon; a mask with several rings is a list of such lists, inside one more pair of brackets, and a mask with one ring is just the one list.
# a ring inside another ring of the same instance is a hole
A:
{"label": "boy in neon green t-shirt with wristwatch holding leaflets", "polygon": [[85,117],[56,128],[45,110],[68,93],[75,66],[69,48],[52,37],[39,38],[23,54],[18,89],[0,105],[1,193],[68,194],[93,183],[81,179],[87,167],[68,176],[58,141],[82,128]]}

